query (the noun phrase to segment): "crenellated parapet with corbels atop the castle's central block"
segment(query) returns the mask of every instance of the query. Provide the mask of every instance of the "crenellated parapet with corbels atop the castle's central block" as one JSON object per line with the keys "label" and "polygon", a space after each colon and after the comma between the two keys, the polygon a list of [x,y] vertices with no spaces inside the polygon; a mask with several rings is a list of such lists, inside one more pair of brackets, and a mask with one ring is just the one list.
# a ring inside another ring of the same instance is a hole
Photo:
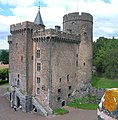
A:
{"label": "crenellated parapet with corbels atop the castle's central block", "polygon": [[55,29],[46,29],[46,30],[35,30],[33,31],[34,41],[38,40],[55,40],[62,42],[71,42],[71,43],[79,43],[80,35],[69,34],[62,31],[57,31]]}

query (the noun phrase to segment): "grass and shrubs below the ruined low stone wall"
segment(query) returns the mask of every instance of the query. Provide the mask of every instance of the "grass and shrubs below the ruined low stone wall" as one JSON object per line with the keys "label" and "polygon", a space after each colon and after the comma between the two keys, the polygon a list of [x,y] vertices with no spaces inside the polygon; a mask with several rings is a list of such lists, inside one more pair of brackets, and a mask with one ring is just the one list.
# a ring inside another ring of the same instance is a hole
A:
{"label": "grass and shrubs below the ruined low stone wall", "polygon": [[68,103],[68,106],[86,110],[96,110],[98,107],[97,97],[89,94],[86,98],[74,98],[72,102]]}

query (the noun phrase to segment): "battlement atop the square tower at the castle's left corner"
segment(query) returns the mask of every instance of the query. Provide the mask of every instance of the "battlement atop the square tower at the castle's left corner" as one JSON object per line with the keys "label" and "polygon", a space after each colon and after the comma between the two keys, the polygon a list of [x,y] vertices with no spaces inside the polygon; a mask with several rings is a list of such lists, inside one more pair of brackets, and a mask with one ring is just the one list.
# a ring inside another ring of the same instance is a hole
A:
{"label": "battlement atop the square tower at the castle's left corner", "polygon": [[24,30],[26,28],[32,29],[33,26],[34,26],[34,24],[32,22],[29,22],[29,21],[13,24],[13,25],[10,25],[10,32],[12,33],[14,31],[21,31],[21,30]]}

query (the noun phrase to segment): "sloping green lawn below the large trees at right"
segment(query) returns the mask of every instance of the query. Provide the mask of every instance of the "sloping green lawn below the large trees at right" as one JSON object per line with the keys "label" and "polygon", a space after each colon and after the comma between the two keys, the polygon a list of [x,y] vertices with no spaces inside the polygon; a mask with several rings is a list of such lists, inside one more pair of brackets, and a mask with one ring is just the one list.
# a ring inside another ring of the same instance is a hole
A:
{"label": "sloping green lawn below the large trees at right", "polygon": [[104,77],[93,76],[91,84],[96,88],[118,88],[118,79],[111,80]]}

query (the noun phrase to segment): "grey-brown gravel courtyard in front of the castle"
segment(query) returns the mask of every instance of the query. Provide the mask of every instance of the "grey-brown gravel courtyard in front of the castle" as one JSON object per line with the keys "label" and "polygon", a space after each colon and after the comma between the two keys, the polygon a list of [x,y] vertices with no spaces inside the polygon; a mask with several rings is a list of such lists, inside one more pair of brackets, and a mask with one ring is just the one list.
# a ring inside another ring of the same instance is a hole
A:
{"label": "grey-brown gravel courtyard in front of the castle", "polygon": [[95,110],[72,109],[68,114],[47,118],[20,110],[14,111],[3,94],[4,89],[0,86],[0,120],[97,120]]}

